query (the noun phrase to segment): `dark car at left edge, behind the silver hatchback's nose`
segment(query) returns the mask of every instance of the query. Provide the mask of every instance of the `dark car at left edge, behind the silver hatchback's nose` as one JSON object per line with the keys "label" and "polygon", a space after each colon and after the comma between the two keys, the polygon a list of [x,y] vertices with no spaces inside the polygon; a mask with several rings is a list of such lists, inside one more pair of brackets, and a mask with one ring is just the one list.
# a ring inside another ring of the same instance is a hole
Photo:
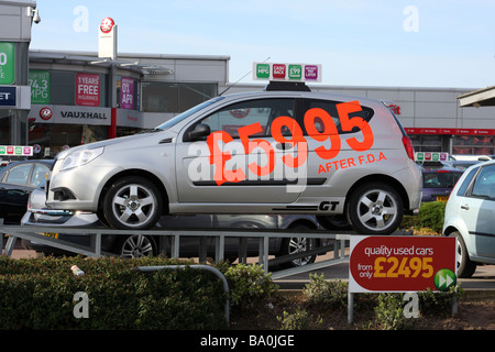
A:
{"label": "dark car at left edge, behind the silver hatchback's nose", "polygon": [[28,197],[46,179],[53,160],[12,162],[0,170],[0,218],[19,223],[28,207]]}

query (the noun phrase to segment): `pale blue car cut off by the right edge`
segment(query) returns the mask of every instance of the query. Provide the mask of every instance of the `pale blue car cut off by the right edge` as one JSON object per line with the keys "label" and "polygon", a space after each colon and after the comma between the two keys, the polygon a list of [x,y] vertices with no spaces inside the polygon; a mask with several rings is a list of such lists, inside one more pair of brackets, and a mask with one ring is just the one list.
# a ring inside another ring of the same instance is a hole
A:
{"label": "pale blue car cut off by the right edge", "polygon": [[468,168],[446,206],[442,233],[458,239],[458,276],[495,264],[495,162]]}

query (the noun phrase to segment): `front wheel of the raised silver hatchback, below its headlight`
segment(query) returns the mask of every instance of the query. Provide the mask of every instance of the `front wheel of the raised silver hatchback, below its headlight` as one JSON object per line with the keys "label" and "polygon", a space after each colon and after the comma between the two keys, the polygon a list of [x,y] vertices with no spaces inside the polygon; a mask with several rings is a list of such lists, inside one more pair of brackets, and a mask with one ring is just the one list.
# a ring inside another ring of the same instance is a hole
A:
{"label": "front wheel of the raised silver hatchback, below its headlight", "polygon": [[130,176],[119,179],[103,198],[105,218],[114,229],[151,229],[158,221],[162,208],[158,188],[143,177]]}

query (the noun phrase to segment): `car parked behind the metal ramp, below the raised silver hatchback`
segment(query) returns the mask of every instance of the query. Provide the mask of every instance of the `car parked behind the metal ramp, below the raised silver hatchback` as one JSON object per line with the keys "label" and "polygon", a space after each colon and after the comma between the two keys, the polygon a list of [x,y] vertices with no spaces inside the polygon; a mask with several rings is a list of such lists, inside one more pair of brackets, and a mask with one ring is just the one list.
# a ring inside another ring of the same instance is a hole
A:
{"label": "car parked behind the metal ramp, below the raised silver hatchback", "polygon": [[[79,233],[67,233],[67,228],[101,228],[102,224],[97,215],[92,212],[70,212],[50,209],[45,205],[46,191],[42,184],[30,197],[28,211],[22,218],[23,226],[43,226],[52,227],[54,232],[46,233],[52,238],[74,242],[76,244],[89,246],[90,235]],[[193,215],[193,216],[162,216],[156,223],[156,228],[163,229],[299,229],[302,232],[310,229],[321,229],[318,221],[312,216],[256,216],[256,215]],[[63,233],[62,229],[65,229]],[[332,241],[332,240],[329,240]],[[328,245],[329,241],[320,239],[309,239],[301,233],[294,238],[273,238],[268,243],[268,253],[283,256],[296,254],[317,246]],[[103,235],[102,250],[121,255],[122,257],[140,257],[144,255],[158,254],[158,238],[145,234],[138,235]],[[30,250],[51,254],[72,254],[70,252],[58,250],[53,246],[23,240],[23,245]],[[168,243],[169,245],[169,243]],[[226,257],[233,262],[239,254],[239,239],[226,238]],[[207,255],[215,255],[213,238],[206,239]],[[258,255],[258,240],[251,238],[246,241],[248,256]],[[197,257],[199,256],[199,238],[182,237],[179,256]],[[322,253],[324,254],[324,253]],[[283,263],[282,266],[299,266],[315,262],[317,255],[295,258]]]}

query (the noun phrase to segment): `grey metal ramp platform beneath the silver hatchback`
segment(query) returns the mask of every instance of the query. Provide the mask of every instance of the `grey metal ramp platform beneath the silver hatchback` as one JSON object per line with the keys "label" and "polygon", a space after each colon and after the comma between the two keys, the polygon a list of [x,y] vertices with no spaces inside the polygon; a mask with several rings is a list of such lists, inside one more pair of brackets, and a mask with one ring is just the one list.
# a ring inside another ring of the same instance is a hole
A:
{"label": "grey metal ramp platform beneath the silver hatchback", "polygon": [[[73,242],[59,240],[50,237],[50,233],[67,233],[67,234],[89,234],[90,245],[85,246]],[[145,232],[145,233],[144,233]],[[219,263],[224,260],[224,242],[226,238],[239,239],[239,262],[246,263],[245,241],[249,238],[255,238],[258,241],[258,256],[257,264],[263,265],[264,272],[268,273],[270,266],[277,265],[284,262],[288,262],[295,258],[305,257],[314,254],[322,254],[333,251],[333,257],[326,261],[319,261],[316,263],[306,264],[302,266],[292,267],[287,270],[280,270],[272,273],[273,279],[290,276],[294,274],[300,274],[331,265],[340,264],[349,261],[349,256],[345,255],[345,248],[349,246],[349,240],[353,232],[336,233],[322,230],[222,230],[222,229],[194,229],[194,230],[145,230],[145,231],[129,231],[129,230],[113,230],[108,228],[63,228],[63,227],[24,227],[24,226],[9,226],[3,224],[3,219],[0,219],[0,233],[8,237],[6,248],[3,249],[2,241],[2,254],[11,256],[18,239],[37,242],[40,244],[53,246],[75,254],[81,254],[90,257],[101,256],[117,256],[114,253],[102,251],[101,241],[105,235],[132,235],[132,234],[146,234],[156,237],[160,239],[158,249],[160,253],[169,252],[169,257],[179,257],[179,244],[180,239],[184,237],[199,237],[199,262],[206,262],[206,249],[202,245],[202,239],[215,239],[215,262]],[[165,238],[170,238],[170,241],[165,241]],[[268,255],[268,241],[272,238],[309,238],[309,239],[327,239],[333,240],[330,245],[319,246],[306,252],[297,254],[284,255],[276,258],[270,258]],[[170,243],[169,248],[166,244]]]}

